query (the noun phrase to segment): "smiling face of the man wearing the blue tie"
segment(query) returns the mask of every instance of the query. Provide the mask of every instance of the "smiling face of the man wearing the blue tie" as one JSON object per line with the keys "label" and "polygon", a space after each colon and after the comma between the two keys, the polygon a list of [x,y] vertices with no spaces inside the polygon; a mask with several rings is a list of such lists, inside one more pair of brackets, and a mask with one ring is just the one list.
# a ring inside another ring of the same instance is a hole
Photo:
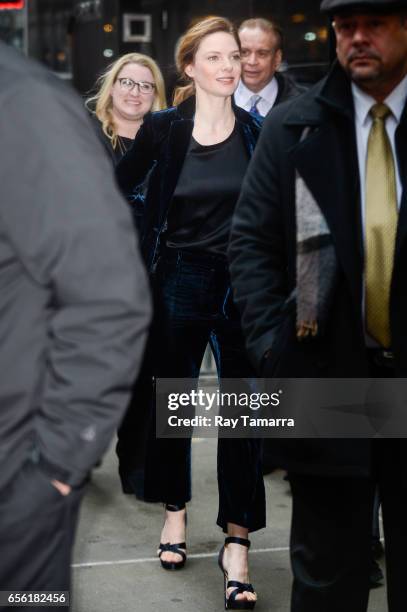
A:
{"label": "smiling face of the man wearing the blue tie", "polygon": [[282,55],[278,38],[273,32],[259,27],[243,28],[239,32],[242,44],[242,81],[257,93],[271,81]]}

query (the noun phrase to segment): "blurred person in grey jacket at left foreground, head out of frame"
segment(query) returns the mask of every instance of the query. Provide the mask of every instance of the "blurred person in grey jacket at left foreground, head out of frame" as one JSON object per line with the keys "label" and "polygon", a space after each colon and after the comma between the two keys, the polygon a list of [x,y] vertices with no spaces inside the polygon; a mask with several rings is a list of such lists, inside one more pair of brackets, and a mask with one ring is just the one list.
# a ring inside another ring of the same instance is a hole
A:
{"label": "blurred person in grey jacket at left foreground, head out of frame", "polygon": [[81,101],[2,43],[0,100],[0,588],[67,591],[84,485],[128,401],[149,291]]}

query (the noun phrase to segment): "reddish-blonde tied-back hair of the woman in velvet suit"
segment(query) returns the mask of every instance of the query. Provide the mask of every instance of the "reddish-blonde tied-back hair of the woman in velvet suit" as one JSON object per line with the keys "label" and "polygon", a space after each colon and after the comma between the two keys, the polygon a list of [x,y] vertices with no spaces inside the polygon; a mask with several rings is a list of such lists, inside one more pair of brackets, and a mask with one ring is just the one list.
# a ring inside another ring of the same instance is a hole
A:
{"label": "reddish-blonde tied-back hair of the woman in velvet suit", "polygon": [[175,89],[173,97],[174,106],[177,106],[194,95],[195,85],[192,79],[186,74],[185,68],[194,62],[196,52],[202,40],[209,34],[215,34],[215,32],[226,32],[227,34],[231,34],[240,51],[240,40],[237,30],[229,19],[210,15],[194,23],[185,34],[181,36],[175,50],[175,62],[178,75],[182,80],[188,81],[188,83],[187,85],[182,85]]}

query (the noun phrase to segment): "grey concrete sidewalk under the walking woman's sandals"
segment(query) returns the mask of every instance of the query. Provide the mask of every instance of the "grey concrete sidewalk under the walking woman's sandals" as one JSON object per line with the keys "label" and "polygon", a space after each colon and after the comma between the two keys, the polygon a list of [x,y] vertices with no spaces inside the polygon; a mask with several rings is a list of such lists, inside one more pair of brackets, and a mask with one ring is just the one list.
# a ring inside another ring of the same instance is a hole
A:
{"label": "grey concrete sidewalk under the walking woman's sandals", "polygon": [[[251,579],[257,612],[289,612],[291,498],[282,472],[266,477],[268,527],[251,536]],[[188,505],[188,562],[179,572],[155,557],[163,508],[123,495],[110,452],[85,499],[74,555],[73,612],[221,612],[223,536],[217,514],[216,441],[193,442],[193,493]],[[371,591],[369,612],[385,612],[385,588]],[[329,612],[329,611],[327,611]]]}

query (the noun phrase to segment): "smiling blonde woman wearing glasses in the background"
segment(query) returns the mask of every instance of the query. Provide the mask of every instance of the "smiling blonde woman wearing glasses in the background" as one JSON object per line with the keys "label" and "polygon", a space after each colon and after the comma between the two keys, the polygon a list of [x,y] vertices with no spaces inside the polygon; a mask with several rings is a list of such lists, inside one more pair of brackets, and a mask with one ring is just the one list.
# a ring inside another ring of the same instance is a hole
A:
{"label": "smiling blonde woman wearing glasses in the background", "polygon": [[86,106],[116,164],[133,144],[146,113],[166,108],[164,79],[151,57],[127,53],[99,77],[96,88]]}

